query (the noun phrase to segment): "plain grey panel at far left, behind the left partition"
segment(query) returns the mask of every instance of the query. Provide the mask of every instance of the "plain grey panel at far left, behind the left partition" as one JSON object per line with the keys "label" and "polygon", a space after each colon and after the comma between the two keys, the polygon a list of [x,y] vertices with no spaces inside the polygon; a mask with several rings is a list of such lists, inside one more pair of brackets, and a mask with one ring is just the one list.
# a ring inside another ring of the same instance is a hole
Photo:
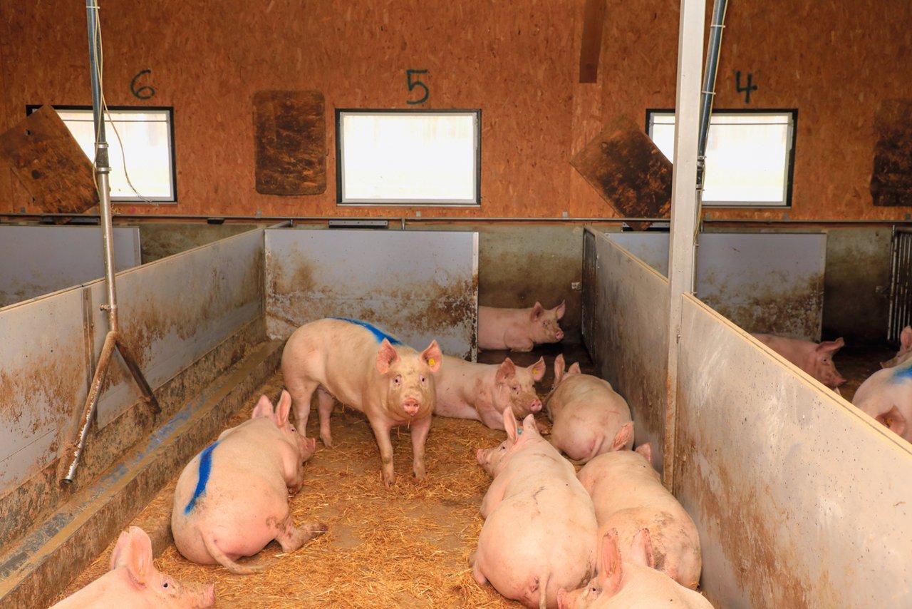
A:
{"label": "plain grey panel at far left, behind the left partition", "polygon": [[[140,265],[140,229],[115,226],[114,266]],[[0,307],[104,277],[100,226],[0,226]]]}

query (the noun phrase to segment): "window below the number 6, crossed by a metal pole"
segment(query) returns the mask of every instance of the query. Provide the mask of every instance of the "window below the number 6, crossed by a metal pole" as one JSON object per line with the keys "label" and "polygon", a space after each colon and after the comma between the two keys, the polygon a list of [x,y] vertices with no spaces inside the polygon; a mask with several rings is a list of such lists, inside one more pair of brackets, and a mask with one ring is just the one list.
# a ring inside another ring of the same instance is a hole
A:
{"label": "window below the number 6, crossed by a metal pole", "polygon": [[[40,106],[28,106],[26,111],[31,113],[38,108]],[[57,114],[76,138],[79,147],[94,162],[95,121],[92,109],[84,106],[55,106],[54,110],[57,110]],[[111,107],[105,115],[105,140],[108,142],[111,169],[111,201],[177,201],[171,108]],[[123,169],[125,158],[127,173]],[[130,183],[133,185],[130,186]]]}

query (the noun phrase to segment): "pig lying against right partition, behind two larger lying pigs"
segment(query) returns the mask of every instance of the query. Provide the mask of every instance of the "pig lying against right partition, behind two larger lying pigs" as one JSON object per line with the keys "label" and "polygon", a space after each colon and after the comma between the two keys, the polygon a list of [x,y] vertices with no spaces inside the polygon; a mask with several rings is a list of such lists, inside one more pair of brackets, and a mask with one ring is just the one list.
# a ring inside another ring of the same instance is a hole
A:
{"label": "pig lying against right partition, behind two larger lying pigs", "polygon": [[634,442],[630,407],[611,383],[580,373],[578,363],[564,373],[564,355],[554,358],[554,386],[545,401],[552,422],[551,444],[579,463]]}

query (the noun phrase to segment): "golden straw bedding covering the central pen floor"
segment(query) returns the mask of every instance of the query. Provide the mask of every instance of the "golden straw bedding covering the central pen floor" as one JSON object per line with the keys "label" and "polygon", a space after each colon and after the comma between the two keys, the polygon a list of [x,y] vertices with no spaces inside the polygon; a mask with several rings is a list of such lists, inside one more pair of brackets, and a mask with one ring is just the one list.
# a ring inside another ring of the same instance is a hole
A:
{"label": "golden straw bedding covering the central pen floor", "polygon": [[[275,373],[229,426],[250,416],[260,394],[277,402],[282,387],[282,374]],[[307,436],[318,436],[317,418],[314,408]],[[521,606],[490,585],[475,583],[468,563],[482,529],[478,507],[491,481],[475,452],[500,443],[503,432],[477,421],[435,416],[427,441],[428,476],[418,482],[411,477],[409,430],[394,429],[397,481],[388,491],[367,418],[337,404],[331,425],[336,446],[326,448],[317,440],[304,487],[290,499],[295,523],[323,522],[325,535],[291,554],[273,541],[239,561],[268,564],[253,575],[186,561],[173,543],[156,560],[158,569],[184,582],[215,583],[217,607]],[[176,481],[133,524],[157,521],[161,526],[170,519]],[[112,549],[113,543],[64,595],[106,572]]]}

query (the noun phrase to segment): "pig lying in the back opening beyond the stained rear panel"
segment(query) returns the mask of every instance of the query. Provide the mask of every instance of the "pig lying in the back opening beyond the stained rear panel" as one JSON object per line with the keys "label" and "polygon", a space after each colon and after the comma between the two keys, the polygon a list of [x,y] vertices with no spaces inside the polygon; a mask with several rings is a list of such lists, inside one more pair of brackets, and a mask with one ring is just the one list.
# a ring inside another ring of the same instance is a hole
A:
{"label": "pig lying in the back opening beyond the stained rear panel", "polygon": [[564,317],[564,301],[554,309],[535,302],[532,309],[478,308],[478,348],[530,352],[536,344],[564,339],[557,320]]}

